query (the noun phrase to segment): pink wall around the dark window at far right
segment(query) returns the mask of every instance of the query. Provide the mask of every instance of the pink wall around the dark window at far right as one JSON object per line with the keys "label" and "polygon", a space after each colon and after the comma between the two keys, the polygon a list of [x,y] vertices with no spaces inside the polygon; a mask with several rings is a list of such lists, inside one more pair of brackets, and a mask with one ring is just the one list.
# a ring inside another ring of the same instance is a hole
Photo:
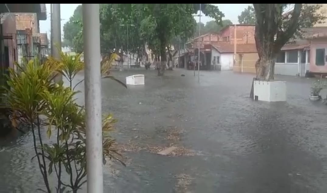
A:
{"label": "pink wall around the dark window at far right", "polygon": [[322,72],[327,73],[327,63],[325,60],[324,66],[316,65],[316,49],[317,48],[325,48],[325,55],[327,55],[327,40],[313,40],[310,46],[310,72]]}

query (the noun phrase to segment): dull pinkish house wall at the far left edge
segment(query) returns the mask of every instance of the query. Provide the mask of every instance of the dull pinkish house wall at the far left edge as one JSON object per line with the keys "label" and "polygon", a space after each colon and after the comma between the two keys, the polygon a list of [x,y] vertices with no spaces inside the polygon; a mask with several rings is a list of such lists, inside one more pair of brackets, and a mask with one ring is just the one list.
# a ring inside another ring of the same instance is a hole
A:
{"label": "dull pinkish house wall at the far left edge", "polygon": [[[17,46],[16,46],[16,22],[15,16],[13,14],[8,14],[5,21],[2,24],[3,35],[11,36],[12,40],[5,39],[4,46],[7,46],[9,49],[9,67],[14,68],[13,61],[17,60]],[[14,56],[15,55],[15,56]]]}

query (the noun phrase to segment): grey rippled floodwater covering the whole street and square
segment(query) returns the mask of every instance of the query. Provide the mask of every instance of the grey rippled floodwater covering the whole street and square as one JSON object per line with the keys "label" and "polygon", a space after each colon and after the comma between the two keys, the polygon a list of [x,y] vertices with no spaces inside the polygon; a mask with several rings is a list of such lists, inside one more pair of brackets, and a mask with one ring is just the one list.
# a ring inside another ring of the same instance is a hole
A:
{"label": "grey rippled floodwater covering the whole street and square", "polygon": [[[145,74],[145,86],[128,89],[102,81],[102,110],[119,120],[112,135],[140,147],[125,148],[127,167],[104,166],[105,192],[327,191],[327,106],[309,101],[312,79],[277,76],[287,81],[287,102],[265,103],[248,98],[253,75],[200,73],[200,84],[193,71],[181,69],[164,77],[154,70],[114,71],[123,81]],[[170,145],[192,153],[152,150]],[[43,187],[32,147],[31,133],[1,141],[1,193]]]}

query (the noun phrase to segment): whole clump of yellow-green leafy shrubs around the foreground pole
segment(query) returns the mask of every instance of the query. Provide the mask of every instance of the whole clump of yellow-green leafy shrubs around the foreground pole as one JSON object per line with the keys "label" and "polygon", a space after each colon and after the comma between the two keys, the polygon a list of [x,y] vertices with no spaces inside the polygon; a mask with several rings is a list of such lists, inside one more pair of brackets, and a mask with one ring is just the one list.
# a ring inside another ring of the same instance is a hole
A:
{"label": "whole clump of yellow-green leafy shrubs around the foreground pole", "polygon": [[[32,160],[36,158],[38,161],[46,187],[43,191],[51,192],[53,189],[48,176],[55,172],[58,180],[56,192],[70,188],[75,193],[86,182],[87,174],[85,109],[75,102],[77,92],[72,89],[72,80],[83,65],[76,62],[76,58],[73,60],[66,55],[62,58],[60,61],[49,58],[44,64],[31,60],[24,68],[16,64],[19,71],[9,69],[9,88],[4,95],[9,107],[21,113],[31,125],[35,150]],[[69,87],[65,87],[63,82],[56,84],[52,81],[58,72],[66,75]],[[44,117],[42,124],[40,116]],[[103,157],[124,164],[122,156],[114,148],[115,140],[109,135],[115,122],[112,115],[103,120]],[[54,144],[43,143],[44,128],[49,138],[56,134]],[[69,175],[69,182],[62,180],[63,172]]]}

